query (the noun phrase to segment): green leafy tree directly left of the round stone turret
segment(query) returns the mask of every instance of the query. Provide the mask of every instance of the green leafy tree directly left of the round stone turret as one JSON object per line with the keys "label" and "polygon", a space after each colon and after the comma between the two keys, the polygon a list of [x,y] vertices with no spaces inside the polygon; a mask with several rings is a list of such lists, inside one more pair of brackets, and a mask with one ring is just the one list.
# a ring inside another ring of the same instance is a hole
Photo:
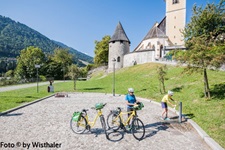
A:
{"label": "green leafy tree directly left of the round stone turret", "polygon": [[106,35],[102,38],[102,41],[95,41],[94,63],[96,65],[108,63],[109,40],[110,39],[111,39],[111,37],[109,35]]}

